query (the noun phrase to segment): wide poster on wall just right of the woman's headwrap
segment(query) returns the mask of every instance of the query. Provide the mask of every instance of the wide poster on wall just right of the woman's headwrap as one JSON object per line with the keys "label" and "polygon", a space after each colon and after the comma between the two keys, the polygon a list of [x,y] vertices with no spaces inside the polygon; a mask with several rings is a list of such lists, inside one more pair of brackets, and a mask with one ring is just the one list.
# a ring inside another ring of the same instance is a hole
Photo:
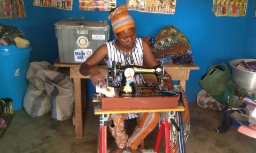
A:
{"label": "wide poster on wall just right of the woman's headwrap", "polygon": [[126,5],[128,10],[174,14],[176,0],[127,0]]}

